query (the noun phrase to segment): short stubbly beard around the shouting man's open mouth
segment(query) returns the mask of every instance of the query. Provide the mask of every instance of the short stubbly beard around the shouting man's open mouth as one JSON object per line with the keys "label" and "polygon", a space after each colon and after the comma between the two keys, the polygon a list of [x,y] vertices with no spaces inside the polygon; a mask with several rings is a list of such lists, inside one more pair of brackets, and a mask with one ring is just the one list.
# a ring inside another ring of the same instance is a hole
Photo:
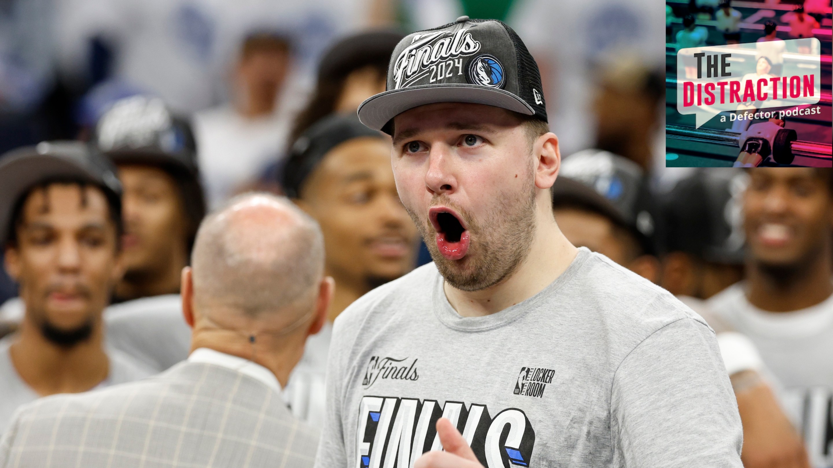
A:
{"label": "short stubbly beard around the shouting man's open mouth", "polygon": [[483,222],[443,200],[466,220],[471,235],[469,253],[461,260],[448,260],[436,246],[436,232],[427,219],[408,210],[419,228],[436,269],[448,284],[461,291],[481,291],[495,286],[514,273],[526,260],[535,237],[535,175],[530,167],[526,184],[516,194],[501,194],[498,207]]}

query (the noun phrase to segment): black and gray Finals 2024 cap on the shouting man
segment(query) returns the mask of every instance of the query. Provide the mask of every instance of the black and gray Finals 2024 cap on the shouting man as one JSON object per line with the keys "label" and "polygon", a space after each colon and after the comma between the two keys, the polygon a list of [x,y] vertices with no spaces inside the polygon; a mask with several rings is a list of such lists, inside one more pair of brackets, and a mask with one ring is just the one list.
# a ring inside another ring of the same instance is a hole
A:
{"label": "black and gray Finals 2024 cap on the shouting man", "polygon": [[546,122],[538,65],[521,37],[496,20],[458,17],[407,35],[387,67],[387,91],[362,102],[358,114],[367,127],[390,133],[397,114],[434,102],[503,107]]}

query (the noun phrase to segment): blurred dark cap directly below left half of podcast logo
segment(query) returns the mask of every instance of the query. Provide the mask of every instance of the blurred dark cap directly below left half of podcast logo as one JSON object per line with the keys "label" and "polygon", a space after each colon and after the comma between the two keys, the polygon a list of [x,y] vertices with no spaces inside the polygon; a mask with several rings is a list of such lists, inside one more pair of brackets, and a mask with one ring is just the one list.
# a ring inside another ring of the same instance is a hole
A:
{"label": "blurred dark cap directly below left half of podcast logo", "polygon": [[704,261],[740,265],[744,256],[741,193],[745,172],[699,169],[662,197],[663,253],[683,251]]}

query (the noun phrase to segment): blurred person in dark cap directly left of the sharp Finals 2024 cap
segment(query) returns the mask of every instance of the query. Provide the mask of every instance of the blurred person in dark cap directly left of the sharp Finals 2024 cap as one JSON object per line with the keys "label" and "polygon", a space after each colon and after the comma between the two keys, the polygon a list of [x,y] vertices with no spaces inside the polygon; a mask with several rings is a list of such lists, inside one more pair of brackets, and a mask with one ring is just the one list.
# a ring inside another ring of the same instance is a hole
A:
{"label": "blurred person in dark cap directly left of the sharp Finals 2024 cap", "polygon": [[402,37],[394,31],[359,32],[333,44],[321,58],[315,90],[296,118],[290,141],[332,113],[354,114],[362,101],[385,91],[387,62]]}

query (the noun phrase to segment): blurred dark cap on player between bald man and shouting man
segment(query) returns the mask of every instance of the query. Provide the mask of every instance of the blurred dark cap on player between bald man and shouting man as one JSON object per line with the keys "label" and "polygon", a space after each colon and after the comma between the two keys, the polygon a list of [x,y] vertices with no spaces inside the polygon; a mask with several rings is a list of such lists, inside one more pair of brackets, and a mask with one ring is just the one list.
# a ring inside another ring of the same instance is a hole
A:
{"label": "blurred dark cap on player between bald man and shouting man", "polygon": [[292,143],[283,167],[281,185],[287,197],[301,197],[304,183],[327,153],[343,142],[358,137],[383,138],[382,132],[365,127],[355,115],[332,114],[303,132]]}

